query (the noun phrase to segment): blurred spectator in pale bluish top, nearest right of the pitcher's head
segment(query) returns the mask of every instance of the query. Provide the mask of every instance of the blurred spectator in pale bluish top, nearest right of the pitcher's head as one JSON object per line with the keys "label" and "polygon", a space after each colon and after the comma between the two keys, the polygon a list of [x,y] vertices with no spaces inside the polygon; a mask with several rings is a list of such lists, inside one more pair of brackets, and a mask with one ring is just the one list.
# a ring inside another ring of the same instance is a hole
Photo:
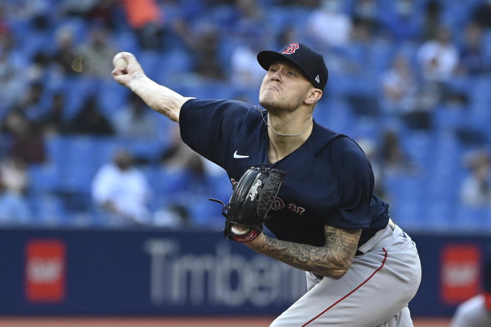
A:
{"label": "blurred spectator in pale bluish top, nearest right of the pitcher's head", "polygon": [[388,113],[402,114],[414,110],[417,83],[408,59],[398,55],[389,71],[382,75],[383,106]]}

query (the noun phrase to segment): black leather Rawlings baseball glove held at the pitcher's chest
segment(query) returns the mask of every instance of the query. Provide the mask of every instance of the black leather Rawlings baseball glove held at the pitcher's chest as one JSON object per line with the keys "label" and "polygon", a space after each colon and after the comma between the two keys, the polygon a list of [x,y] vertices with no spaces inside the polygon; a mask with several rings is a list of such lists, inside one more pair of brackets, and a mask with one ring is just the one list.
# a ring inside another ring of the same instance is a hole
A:
{"label": "black leather Rawlings baseball glove held at the pitcher's chest", "polygon": [[[285,172],[264,166],[251,166],[234,186],[230,203],[221,203],[222,214],[227,218],[224,235],[237,242],[251,242],[262,232],[262,223],[269,217],[276,194],[280,190]],[[243,233],[234,229],[234,224],[248,227]]]}

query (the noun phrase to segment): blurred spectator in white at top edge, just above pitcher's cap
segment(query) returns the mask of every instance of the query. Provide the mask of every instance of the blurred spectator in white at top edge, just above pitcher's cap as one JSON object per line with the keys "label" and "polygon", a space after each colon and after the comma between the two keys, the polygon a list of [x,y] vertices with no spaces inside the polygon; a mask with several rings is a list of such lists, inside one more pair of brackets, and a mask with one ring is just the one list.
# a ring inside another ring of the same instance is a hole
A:
{"label": "blurred spectator in white at top edge, just above pitcher's cap", "polygon": [[344,47],[349,43],[351,19],[341,10],[340,0],[326,0],[313,10],[306,27],[320,42],[331,47]]}

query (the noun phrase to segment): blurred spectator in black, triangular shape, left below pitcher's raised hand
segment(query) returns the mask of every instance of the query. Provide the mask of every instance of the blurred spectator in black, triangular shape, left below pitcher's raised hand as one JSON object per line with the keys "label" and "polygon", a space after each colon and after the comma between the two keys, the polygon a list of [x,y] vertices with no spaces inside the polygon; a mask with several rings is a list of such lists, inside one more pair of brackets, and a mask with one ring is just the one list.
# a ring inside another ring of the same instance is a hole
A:
{"label": "blurred spectator in black, triangular shape, left below pitcher's raised hand", "polygon": [[113,126],[111,126],[106,117],[99,112],[95,96],[91,96],[85,101],[80,112],[70,122],[68,132],[95,135],[114,134]]}

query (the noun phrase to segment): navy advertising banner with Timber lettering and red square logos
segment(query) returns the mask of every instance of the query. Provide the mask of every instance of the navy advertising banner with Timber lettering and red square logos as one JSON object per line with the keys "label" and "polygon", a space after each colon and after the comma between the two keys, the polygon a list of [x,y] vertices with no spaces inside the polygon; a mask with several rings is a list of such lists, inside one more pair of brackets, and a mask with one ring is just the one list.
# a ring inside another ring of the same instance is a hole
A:
{"label": "navy advertising banner with Timber lettering and red square logos", "polygon": [[[416,316],[450,316],[477,294],[485,236],[414,235]],[[0,230],[1,315],[278,315],[305,273],[219,231]]]}

